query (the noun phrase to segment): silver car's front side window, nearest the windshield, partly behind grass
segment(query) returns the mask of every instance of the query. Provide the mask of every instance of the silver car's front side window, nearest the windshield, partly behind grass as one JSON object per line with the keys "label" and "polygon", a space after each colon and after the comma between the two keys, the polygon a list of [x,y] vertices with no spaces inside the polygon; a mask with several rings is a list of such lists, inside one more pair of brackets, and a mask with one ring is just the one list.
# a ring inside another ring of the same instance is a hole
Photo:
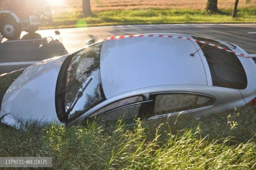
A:
{"label": "silver car's front side window, nearest the windshield, partly behind grass", "polygon": [[139,108],[141,107],[141,104],[132,105],[132,106],[127,106],[127,105],[141,102],[141,101],[143,101],[142,96],[133,96],[133,97],[125,98],[122,100],[118,100],[114,103],[111,103],[99,109],[98,111],[90,115],[88,118],[98,117],[102,115],[101,118],[108,121],[115,121],[115,120],[118,120],[120,117],[123,118],[124,120],[134,119],[136,118],[136,116],[138,117],[139,115]]}

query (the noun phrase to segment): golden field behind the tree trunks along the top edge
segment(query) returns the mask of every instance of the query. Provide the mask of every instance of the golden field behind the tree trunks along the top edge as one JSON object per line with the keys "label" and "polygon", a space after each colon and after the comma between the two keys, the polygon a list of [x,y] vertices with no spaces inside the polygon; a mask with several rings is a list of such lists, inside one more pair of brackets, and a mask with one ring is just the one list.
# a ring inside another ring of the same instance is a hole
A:
{"label": "golden field behind the tree trunks along the top edge", "polygon": [[[53,10],[56,12],[81,11],[82,0],[50,0]],[[256,1],[246,4],[245,0],[239,1],[239,8],[256,7]],[[91,0],[93,12],[135,9],[194,9],[205,8],[207,0]],[[234,6],[234,0],[219,0],[219,9],[230,9]]]}

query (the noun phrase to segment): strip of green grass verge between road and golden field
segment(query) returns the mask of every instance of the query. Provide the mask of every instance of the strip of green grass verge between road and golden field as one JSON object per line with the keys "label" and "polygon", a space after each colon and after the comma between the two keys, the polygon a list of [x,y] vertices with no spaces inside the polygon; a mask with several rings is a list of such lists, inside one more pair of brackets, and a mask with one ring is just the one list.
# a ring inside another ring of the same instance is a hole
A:
{"label": "strip of green grass verge between road and golden field", "polygon": [[[58,28],[76,28],[135,24],[182,24],[182,23],[256,23],[256,8],[238,9],[238,17],[232,18],[232,9],[209,13],[204,10],[119,10],[95,13],[84,18],[81,13],[57,13],[53,21]],[[78,23],[77,23],[78,22]],[[52,28],[44,25],[41,29]]]}

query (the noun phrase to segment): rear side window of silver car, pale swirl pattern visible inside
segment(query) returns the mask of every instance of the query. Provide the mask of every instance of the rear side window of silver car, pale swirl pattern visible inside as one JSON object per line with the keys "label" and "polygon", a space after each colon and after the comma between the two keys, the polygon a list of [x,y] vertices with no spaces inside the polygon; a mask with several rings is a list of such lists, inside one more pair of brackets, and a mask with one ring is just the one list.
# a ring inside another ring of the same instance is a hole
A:
{"label": "rear side window of silver car, pale swirl pattern visible inside", "polygon": [[190,111],[212,106],[214,103],[215,98],[210,96],[192,93],[160,94],[155,96],[153,115],[151,114],[147,117]]}

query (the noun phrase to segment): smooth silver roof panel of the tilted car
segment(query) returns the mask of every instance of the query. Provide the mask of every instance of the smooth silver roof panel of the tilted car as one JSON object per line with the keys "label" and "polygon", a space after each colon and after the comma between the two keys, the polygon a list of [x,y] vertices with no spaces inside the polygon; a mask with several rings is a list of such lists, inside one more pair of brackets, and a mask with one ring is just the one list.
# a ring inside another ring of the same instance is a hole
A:
{"label": "smooth silver roof panel of the tilted car", "polygon": [[[100,74],[106,98],[145,87],[207,85],[203,62],[196,51],[190,40],[168,37],[105,41],[101,49]],[[190,56],[191,53],[195,56]]]}

